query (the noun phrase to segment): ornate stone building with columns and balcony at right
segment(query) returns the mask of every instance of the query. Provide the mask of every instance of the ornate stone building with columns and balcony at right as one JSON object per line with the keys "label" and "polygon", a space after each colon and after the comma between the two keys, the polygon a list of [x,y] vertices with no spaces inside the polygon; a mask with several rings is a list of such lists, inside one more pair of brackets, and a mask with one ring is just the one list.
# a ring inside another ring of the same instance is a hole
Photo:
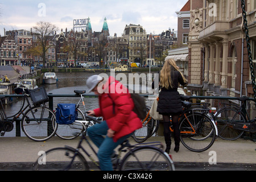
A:
{"label": "ornate stone building with columns and balcony at right", "polygon": [[[255,69],[256,1],[245,2]],[[188,89],[205,96],[253,97],[241,1],[191,0],[190,12]]]}

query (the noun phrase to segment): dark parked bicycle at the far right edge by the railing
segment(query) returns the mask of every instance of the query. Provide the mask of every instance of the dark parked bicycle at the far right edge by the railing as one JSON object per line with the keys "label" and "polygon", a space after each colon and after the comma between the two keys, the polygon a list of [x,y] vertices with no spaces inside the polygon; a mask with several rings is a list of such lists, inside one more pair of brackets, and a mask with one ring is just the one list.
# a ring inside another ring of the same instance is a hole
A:
{"label": "dark parked bicycle at the far right edge by the railing", "polygon": [[256,133],[256,118],[250,119],[246,110],[246,101],[249,97],[238,97],[240,106],[225,104],[217,110],[214,116],[217,122],[218,137],[224,140],[236,140],[244,132]]}

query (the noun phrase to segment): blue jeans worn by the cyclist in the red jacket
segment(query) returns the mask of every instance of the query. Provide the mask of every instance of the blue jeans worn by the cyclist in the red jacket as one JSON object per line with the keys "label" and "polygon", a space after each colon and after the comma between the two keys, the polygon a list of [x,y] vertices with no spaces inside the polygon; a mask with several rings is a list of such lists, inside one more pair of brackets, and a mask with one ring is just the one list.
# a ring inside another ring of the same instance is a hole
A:
{"label": "blue jeans worn by the cyclist in the red jacket", "polygon": [[133,133],[125,135],[122,138],[119,138],[117,142],[113,141],[113,138],[108,136],[103,137],[108,132],[108,125],[106,121],[103,121],[100,124],[96,124],[87,129],[87,134],[94,144],[98,147],[98,159],[100,160],[100,167],[102,171],[113,171],[113,166],[111,162],[111,156],[114,152],[115,147],[121,144],[124,140],[129,138]]}

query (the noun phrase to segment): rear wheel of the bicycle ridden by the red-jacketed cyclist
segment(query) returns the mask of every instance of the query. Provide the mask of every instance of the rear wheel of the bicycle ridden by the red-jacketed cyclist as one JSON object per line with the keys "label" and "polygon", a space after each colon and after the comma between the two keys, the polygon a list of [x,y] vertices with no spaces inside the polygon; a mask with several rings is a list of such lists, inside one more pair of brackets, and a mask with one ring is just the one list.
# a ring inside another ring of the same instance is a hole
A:
{"label": "rear wheel of the bicycle ridden by the red-jacketed cyclist", "polygon": [[128,152],[120,166],[121,171],[174,171],[170,156],[156,147],[139,147]]}

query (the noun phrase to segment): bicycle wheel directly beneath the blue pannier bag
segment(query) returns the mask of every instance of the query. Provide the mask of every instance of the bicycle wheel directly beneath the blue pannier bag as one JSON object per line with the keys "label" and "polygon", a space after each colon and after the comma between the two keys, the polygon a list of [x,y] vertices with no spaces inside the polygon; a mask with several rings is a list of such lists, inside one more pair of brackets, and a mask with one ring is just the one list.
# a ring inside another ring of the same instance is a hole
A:
{"label": "bicycle wheel directly beneath the blue pannier bag", "polygon": [[71,140],[77,138],[82,131],[84,131],[84,125],[82,121],[85,121],[84,114],[80,109],[77,109],[78,118],[75,122],[69,125],[59,125],[57,126],[56,135],[61,139]]}

